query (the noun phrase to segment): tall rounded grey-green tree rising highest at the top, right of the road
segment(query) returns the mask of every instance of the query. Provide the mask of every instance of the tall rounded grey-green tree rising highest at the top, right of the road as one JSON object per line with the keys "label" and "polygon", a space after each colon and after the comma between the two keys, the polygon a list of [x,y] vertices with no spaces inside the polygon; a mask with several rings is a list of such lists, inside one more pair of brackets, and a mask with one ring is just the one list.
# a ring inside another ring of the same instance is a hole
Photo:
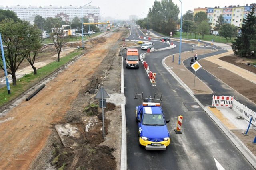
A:
{"label": "tall rounded grey-green tree rising highest at the top, right of the road", "polygon": [[161,2],[155,0],[148,12],[152,29],[168,35],[170,32],[175,32],[179,12],[178,6],[172,0],[161,0]]}

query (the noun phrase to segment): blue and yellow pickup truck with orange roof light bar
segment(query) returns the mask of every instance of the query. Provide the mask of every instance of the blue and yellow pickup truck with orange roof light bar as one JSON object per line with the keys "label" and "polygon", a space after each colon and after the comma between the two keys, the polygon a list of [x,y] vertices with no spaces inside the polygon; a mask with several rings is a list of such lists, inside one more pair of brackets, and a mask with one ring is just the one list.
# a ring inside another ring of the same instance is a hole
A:
{"label": "blue and yellow pickup truck with orange roof light bar", "polygon": [[146,150],[165,150],[170,144],[170,133],[160,103],[143,102],[136,106],[139,145]]}

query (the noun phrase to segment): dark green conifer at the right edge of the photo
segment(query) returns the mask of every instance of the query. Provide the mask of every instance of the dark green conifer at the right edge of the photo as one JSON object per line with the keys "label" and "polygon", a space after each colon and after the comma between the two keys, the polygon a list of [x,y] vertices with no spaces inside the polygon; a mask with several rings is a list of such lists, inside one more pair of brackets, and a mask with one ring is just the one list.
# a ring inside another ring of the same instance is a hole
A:
{"label": "dark green conifer at the right edge of the photo", "polygon": [[243,20],[242,27],[240,28],[241,34],[236,37],[232,42],[232,49],[235,54],[241,57],[256,58],[256,16],[255,4],[252,6],[250,12],[247,14],[246,19]]}

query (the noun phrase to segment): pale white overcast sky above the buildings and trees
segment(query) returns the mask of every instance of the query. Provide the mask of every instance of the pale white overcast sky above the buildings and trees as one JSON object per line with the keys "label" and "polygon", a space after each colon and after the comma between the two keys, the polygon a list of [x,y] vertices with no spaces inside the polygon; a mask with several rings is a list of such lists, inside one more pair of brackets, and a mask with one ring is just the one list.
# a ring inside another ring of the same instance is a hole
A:
{"label": "pale white overcast sky above the buildings and trees", "polygon": [[[92,6],[100,7],[102,17],[115,17],[116,19],[129,19],[129,15],[138,15],[139,18],[146,17],[149,8],[154,5],[154,0],[1,0],[0,5],[56,5],[56,6],[84,6],[90,3]],[[159,1],[159,0],[158,0]],[[181,0],[182,1],[182,14],[185,14],[188,10],[194,10],[194,8],[204,7],[224,7],[230,5],[240,5],[255,3],[256,0]],[[181,3],[179,0],[172,0],[174,4],[180,8]],[[143,14],[146,13],[146,14]]]}

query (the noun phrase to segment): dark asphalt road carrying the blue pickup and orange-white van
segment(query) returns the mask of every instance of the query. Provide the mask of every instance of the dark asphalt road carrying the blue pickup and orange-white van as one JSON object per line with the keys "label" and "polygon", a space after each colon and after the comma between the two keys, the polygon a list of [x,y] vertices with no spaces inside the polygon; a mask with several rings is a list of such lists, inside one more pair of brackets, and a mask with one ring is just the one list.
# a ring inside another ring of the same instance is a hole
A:
{"label": "dark asphalt road carrying the blue pickup and orange-white van", "polygon": [[[132,28],[132,31],[135,31],[135,28]],[[160,46],[162,44],[163,47],[166,45],[161,42],[155,44]],[[254,169],[214,121],[163,67],[164,57],[178,53],[179,43],[175,45],[174,49],[154,51],[144,59],[149,64],[150,70],[157,73],[156,86],[152,86],[142,63],[139,69],[124,67],[124,94],[127,101],[125,105],[127,169],[218,169],[216,161],[225,169]],[[190,49],[190,45],[182,43],[182,51]],[[202,73],[202,76],[203,74],[206,73]],[[135,107],[141,104],[142,100],[134,99],[136,92],[138,94],[143,92],[144,96],[162,94],[162,109],[166,119],[170,119],[167,125],[171,143],[166,150],[145,150],[139,147]],[[202,101],[206,100],[204,97],[207,96],[200,97]],[[184,116],[182,134],[174,132],[179,115]]]}

